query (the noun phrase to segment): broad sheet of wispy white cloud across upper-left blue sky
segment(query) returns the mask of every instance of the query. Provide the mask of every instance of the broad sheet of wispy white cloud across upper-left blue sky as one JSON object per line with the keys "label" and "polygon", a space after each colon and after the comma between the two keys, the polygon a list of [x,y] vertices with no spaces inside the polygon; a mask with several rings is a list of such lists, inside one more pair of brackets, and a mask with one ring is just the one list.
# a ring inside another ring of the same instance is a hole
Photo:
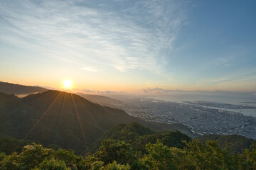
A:
{"label": "broad sheet of wispy white cloud across upper-left blue sky", "polygon": [[[178,1],[1,1],[1,40],[95,72],[161,72],[184,23]],[[113,6],[115,7],[113,7]]]}

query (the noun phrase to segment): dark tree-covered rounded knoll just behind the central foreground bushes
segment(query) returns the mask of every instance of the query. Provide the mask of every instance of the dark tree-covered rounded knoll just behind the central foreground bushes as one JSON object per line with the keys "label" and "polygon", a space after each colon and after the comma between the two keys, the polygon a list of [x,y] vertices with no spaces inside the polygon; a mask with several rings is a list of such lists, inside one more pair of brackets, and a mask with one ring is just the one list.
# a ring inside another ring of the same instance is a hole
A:
{"label": "dark tree-covered rounded knoll just behind the central foreground bushes", "polygon": [[146,152],[145,147],[147,143],[156,143],[156,140],[158,139],[168,147],[178,148],[183,148],[185,146],[185,144],[182,142],[183,140],[191,140],[191,137],[188,137],[179,131],[154,132],[153,130],[139,125],[138,123],[132,123],[129,125],[119,124],[106,132],[91,146],[92,152],[100,147],[102,140],[107,138],[127,142],[132,145],[134,151],[142,152],[141,154]]}

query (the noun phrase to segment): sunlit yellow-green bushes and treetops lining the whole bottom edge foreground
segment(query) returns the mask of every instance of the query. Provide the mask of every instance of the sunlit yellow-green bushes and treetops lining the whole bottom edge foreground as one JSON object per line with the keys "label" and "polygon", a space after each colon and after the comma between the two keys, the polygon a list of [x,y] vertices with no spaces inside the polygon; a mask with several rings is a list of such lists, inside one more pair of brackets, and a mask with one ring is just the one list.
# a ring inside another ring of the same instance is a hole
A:
{"label": "sunlit yellow-green bushes and treetops lining the whole bottom edge foreground", "polygon": [[186,142],[184,149],[167,147],[160,140],[146,145],[146,154],[138,157],[132,147],[121,141],[104,140],[95,154],[81,157],[72,150],[46,149],[32,144],[21,153],[0,153],[0,169],[256,169],[256,143],[243,154],[230,154],[228,147],[221,149],[217,142],[206,145],[196,140]]}

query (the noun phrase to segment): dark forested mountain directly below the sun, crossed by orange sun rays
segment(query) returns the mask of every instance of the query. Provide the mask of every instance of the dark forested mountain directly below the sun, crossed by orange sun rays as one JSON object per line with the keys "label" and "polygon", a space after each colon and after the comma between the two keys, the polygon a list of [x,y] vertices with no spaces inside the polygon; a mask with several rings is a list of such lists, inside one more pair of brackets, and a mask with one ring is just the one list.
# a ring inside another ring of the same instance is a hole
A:
{"label": "dark forested mountain directly below the sun, crossed by orange sun rays", "polygon": [[0,96],[9,98],[9,104],[0,109],[3,120],[0,133],[43,145],[76,149],[78,152],[85,150],[118,123],[137,122],[157,130],[173,130],[169,126],[146,123],[122,110],[100,106],[62,91],[46,91],[24,98],[6,94]]}

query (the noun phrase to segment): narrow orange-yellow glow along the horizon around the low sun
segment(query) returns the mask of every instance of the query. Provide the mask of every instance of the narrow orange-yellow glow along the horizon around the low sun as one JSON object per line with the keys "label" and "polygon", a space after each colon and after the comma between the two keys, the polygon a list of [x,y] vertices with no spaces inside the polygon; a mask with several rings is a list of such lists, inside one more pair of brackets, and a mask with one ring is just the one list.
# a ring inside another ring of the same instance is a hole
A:
{"label": "narrow orange-yellow glow along the horizon around the low sun", "polygon": [[[72,77],[72,76],[70,76]],[[67,81],[68,80],[68,81]],[[49,79],[31,79],[28,77],[23,77],[23,79],[4,79],[1,80],[3,82],[8,82],[12,84],[21,84],[25,86],[41,86],[46,89],[55,89],[60,91],[80,91],[82,89],[89,90],[87,93],[99,93],[100,91],[125,91],[127,93],[139,93],[142,92],[142,89],[151,88],[154,89],[156,87],[161,89],[169,89],[169,90],[183,90],[183,91],[215,91],[215,90],[223,90],[223,91],[252,91],[255,84],[233,84],[233,86],[199,86],[195,84],[191,84],[190,86],[186,86],[184,84],[172,84],[171,86],[168,84],[164,85],[156,85],[153,83],[143,83],[143,82],[133,82],[133,81],[107,81],[103,80],[91,80],[91,77],[87,79],[78,79],[73,76],[73,79],[69,79],[66,77],[65,79],[60,77],[50,77]],[[64,84],[65,82],[65,84]],[[90,92],[91,91],[91,92]],[[99,92],[98,92],[99,91]]]}

